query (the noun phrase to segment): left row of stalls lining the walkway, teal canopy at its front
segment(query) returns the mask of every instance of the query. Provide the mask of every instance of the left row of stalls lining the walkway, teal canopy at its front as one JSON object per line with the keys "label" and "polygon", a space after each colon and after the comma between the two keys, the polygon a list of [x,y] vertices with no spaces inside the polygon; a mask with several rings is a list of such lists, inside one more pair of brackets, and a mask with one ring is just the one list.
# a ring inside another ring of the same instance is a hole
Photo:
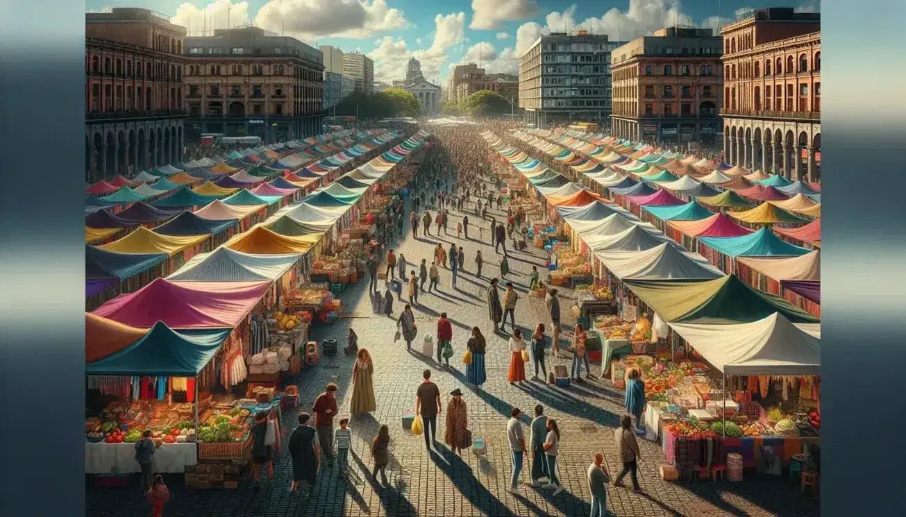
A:
{"label": "left row of stalls lining the walkway, teal canopy at its front", "polygon": [[155,472],[187,473],[197,488],[234,483],[230,462],[248,459],[250,417],[281,411],[282,378],[309,357],[310,324],[342,311],[332,282],[313,282],[312,273],[363,269],[365,243],[350,230],[389,202],[386,187],[408,174],[400,162],[427,137],[401,140],[166,277],[86,312],[86,473],[136,472],[131,444],[148,429],[158,443]]}

